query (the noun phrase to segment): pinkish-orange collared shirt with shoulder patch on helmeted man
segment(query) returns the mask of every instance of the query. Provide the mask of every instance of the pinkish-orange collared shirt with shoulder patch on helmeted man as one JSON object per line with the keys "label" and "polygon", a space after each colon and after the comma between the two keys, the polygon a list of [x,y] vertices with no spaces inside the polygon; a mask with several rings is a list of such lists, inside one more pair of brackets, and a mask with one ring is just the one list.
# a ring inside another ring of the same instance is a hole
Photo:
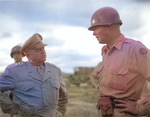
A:
{"label": "pinkish-orange collared shirt with shoulder patch on helmeted man", "polygon": [[138,100],[145,81],[150,81],[149,50],[121,34],[111,49],[102,48],[102,56],[100,96]]}

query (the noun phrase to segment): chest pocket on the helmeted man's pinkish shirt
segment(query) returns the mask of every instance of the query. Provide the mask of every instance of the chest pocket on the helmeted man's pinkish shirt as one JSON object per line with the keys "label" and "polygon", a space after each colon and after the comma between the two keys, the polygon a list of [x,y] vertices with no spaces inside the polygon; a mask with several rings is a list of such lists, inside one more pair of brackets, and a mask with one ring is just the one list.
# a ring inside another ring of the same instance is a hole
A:
{"label": "chest pocket on the helmeted man's pinkish shirt", "polygon": [[106,85],[110,88],[125,91],[127,89],[128,68],[110,68],[107,74]]}

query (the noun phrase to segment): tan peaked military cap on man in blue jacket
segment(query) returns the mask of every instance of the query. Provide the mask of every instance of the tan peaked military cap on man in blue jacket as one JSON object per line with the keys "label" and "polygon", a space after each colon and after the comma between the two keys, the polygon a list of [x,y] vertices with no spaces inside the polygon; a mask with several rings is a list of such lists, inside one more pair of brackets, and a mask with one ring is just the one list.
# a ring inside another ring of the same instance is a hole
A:
{"label": "tan peaked military cap on man in blue jacket", "polygon": [[27,52],[28,50],[47,46],[47,44],[44,44],[42,40],[43,40],[42,36],[38,33],[35,33],[28,40],[25,41],[25,43],[21,47],[20,52],[22,53],[23,56],[25,56],[24,53]]}

